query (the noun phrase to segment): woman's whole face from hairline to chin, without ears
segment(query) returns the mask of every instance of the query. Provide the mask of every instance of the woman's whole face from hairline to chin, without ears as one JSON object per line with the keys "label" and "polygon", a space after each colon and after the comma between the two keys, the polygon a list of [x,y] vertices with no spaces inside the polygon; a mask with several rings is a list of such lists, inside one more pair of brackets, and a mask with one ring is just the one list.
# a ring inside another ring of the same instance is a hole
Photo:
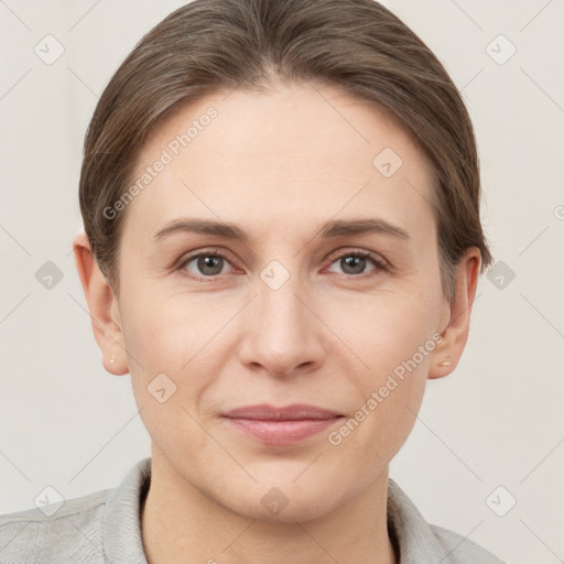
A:
{"label": "woman's whole face from hairline to chin, without ears", "polygon": [[137,180],[119,318],[162,471],[261,519],[365,491],[412,429],[448,322],[420,151],[366,101],[275,86],[175,113]]}

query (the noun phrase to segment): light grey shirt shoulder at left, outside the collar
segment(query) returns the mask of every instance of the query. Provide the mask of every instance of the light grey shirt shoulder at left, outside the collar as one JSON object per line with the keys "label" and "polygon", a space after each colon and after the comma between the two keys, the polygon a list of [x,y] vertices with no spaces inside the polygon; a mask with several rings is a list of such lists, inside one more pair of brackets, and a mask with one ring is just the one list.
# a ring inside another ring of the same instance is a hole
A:
{"label": "light grey shirt shoulder at left, outside the collar", "polygon": [[0,516],[2,564],[102,563],[101,514],[110,492]]}

